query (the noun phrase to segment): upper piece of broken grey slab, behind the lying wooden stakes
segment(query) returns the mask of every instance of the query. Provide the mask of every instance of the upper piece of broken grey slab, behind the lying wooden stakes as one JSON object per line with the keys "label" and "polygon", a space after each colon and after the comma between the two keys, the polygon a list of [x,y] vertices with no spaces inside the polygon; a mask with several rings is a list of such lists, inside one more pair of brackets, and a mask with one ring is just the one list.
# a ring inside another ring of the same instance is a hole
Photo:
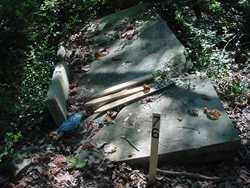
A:
{"label": "upper piece of broken grey slab, behind the lying wooden stakes", "polygon": [[[81,87],[96,94],[110,86],[171,68],[179,75],[185,69],[184,47],[167,24],[147,6],[106,16],[89,30],[94,48],[107,49],[108,55],[91,63]],[[131,40],[121,38],[129,28],[135,30]]]}

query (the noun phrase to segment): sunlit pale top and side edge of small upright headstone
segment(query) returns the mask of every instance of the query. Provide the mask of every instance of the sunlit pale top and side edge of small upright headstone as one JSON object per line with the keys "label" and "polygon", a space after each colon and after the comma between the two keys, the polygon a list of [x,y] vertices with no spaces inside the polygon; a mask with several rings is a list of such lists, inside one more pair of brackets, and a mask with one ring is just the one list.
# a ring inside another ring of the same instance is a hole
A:
{"label": "sunlit pale top and side edge of small upright headstone", "polygon": [[53,72],[52,80],[58,80],[62,87],[62,92],[65,100],[69,97],[69,80],[67,67],[64,64],[57,64]]}

